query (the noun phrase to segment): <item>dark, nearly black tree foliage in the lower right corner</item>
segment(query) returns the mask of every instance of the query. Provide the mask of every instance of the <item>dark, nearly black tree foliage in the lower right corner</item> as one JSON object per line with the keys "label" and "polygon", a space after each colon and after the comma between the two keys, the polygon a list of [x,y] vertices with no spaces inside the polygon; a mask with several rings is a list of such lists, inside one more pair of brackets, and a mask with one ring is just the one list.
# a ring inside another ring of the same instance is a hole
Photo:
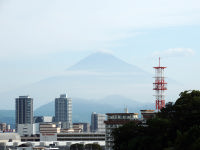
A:
{"label": "dark, nearly black tree foliage in the lower right corner", "polygon": [[185,91],[144,126],[130,122],[113,131],[114,150],[199,150],[200,91]]}

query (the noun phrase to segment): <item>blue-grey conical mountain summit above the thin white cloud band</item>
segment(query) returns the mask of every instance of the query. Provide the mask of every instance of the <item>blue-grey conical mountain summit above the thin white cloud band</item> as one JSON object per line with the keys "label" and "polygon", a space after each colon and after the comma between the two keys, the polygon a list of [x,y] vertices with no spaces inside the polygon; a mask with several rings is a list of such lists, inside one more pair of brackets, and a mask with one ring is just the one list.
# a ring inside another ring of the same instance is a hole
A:
{"label": "blue-grey conical mountain summit above the thin white cloud band", "polygon": [[138,67],[128,64],[109,52],[95,52],[71,66],[70,71],[98,72],[143,72]]}

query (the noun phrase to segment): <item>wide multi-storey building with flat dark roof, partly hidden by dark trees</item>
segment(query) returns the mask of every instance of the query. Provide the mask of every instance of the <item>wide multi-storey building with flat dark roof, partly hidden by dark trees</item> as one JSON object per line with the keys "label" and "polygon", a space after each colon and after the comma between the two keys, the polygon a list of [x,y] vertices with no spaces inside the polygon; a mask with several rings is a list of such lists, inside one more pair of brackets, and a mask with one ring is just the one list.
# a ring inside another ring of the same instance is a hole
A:
{"label": "wide multi-storey building with flat dark roof, partly hidden by dark trees", "polygon": [[138,113],[108,113],[106,124],[106,150],[112,150],[113,137],[111,135],[113,129],[130,122],[138,121]]}

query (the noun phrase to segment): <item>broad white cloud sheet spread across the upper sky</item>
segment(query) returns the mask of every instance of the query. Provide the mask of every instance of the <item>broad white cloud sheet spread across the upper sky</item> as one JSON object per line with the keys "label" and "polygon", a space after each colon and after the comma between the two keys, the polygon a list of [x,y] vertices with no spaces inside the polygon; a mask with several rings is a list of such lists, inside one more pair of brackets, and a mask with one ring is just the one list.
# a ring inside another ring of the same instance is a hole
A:
{"label": "broad white cloud sheet spread across the upper sky", "polygon": [[0,57],[112,48],[138,34],[130,31],[199,24],[199,17],[199,0],[4,0]]}

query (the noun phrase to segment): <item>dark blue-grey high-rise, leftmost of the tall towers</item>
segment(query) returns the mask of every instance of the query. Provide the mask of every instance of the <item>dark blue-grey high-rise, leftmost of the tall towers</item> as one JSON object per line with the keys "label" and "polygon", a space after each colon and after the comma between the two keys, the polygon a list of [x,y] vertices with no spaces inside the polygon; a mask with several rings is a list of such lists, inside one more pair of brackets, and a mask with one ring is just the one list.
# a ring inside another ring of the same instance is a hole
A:
{"label": "dark blue-grey high-rise, leftmost of the tall towers", "polygon": [[18,124],[33,124],[33,99],[29,96],[19,96],[15,99],[15,122]]}

